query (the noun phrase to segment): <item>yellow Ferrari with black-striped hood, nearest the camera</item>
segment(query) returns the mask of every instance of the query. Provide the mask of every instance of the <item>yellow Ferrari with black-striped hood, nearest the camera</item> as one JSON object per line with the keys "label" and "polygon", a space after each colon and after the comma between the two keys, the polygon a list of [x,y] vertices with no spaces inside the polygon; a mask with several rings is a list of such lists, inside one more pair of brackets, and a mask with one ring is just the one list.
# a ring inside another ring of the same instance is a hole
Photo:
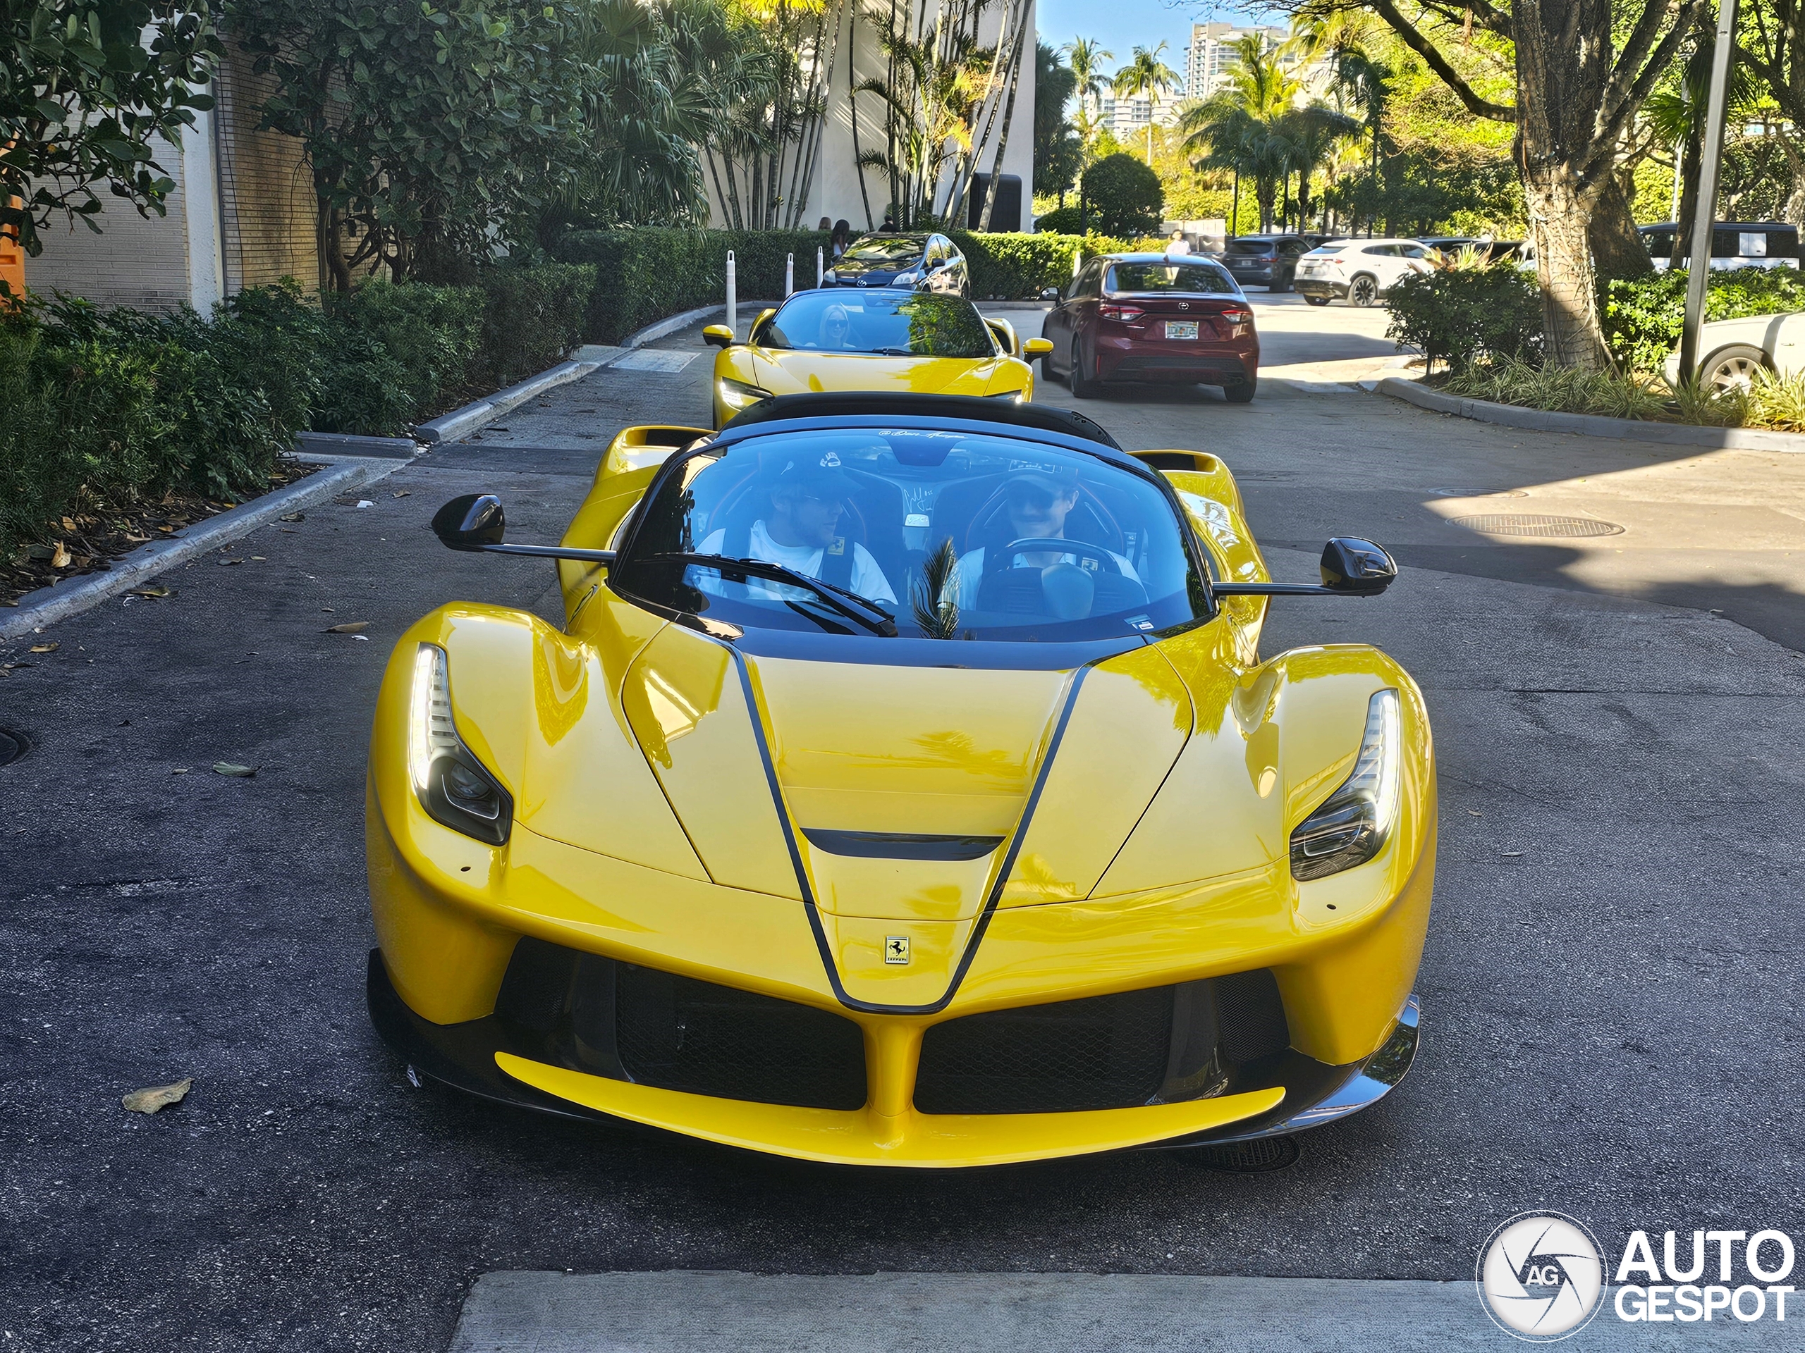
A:
{"label": "yellow Ferrari with black-striped hood, nearest the camera", "polygon": [[630,428],[561,545],[493,496],[435,529],[558,559],[567,622],[451,603],[383,682],[368,998],[428,1077],[984,1165],[1291,1133],[1410,1066],[1422,696],[1258,653],[1379,547],[1273,583],[1215,456],[922,395]]}

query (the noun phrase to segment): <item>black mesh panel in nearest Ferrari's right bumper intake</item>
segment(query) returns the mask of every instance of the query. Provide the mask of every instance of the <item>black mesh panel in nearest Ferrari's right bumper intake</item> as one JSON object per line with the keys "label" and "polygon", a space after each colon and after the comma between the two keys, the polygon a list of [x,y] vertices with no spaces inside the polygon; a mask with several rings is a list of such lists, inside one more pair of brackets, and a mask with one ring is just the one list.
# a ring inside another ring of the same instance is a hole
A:
{"label": "black mesh panel in nearest Ferrari's right bumper intake", "polygon": [[1166,1079],[1171,987],[993,1010],[933,1025],[922,1113],[1065,1113],[1146,1104]]}

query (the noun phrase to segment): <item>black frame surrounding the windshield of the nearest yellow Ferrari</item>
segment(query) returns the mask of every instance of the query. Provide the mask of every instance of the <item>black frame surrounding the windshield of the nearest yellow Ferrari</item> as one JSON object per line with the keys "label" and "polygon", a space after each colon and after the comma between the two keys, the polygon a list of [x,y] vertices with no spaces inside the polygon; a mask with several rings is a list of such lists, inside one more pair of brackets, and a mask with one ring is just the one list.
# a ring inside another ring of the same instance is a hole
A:
{"label": "black frame surrounding the windshield of the nearest yellow Ferrari", "polygon": [[[639,511],[639,507],[643,507],[644,503],[655,502],[657,496],[670,485],[670,482],[673,478],[679,478],[679,476],[684,474],[684,465],[688,465],[697,456],[708,455],[711,458],[718,458],[720,455],[726,455],[726,451],[731,446],[735,446],[738,442],[744,442],[744,440],[749,440],[749,438],[754,438],[754,437],[771,435],[773,431],[778,431],[778,428],[792,428],[794,431],[848,431],[848,429],[859,429],[859,428],[870,428],[870,429],[906,428],[906,429],[921,429],[921,431],[978,433],[978,435],[989,435],[989,437],[1005,435],[1002,426],[998,426],[996,422],[989,422],[989,420],[980,420],[980,419],[942,419],[942,417],[919,417],[919,415],[917,417],[897,417],[897,415],[888,415],[888,417],[847,417],[847,415],[839,415],[839,417],[800,417],[800,419],[794,419],[794,420],[783,420],[782,424],[764,422],[764,424],[749,426],[749,428],[738,428],[735,424],[729,424],[724,431],[715,433],[709,438],[702,438],[702,440],[691,442],[682,451],[673,453],[659,467],[659,473],[653,476],[652,483],[646,487],[644,496],[639,500],[639,505],[635,505],[635,509],[632,512],[626,538],[621,539],[619,545],[617,545],[617,561],[616,561],[617,566],[608,568],[606,579],[605,579],[608,590],[614,592],[621,601],[625,601],[625,603],[628,603],[632,606],[639,606],[641,610],[650,612],[653,615],[662,615],[662,617],[666,617],[670,621],[675,621],[679,624],[684,624],[688,628],[693,628],[693,630],[699,630],[702,633],[713,635],[715,639],[724,639],[727,642],[735,642],[735,644],[745,646],[747,651],[753,651],[754,648],[771,648],[771,646],[776,646],[782,651],[796,651],[800,648],[800,649],[805,649],[810,657],[816,655],[816,653],[821,653],[823,649],[816,642],[810,642],[807,639],[798,639],[794,633],[780,631],[780,630],[744,628],[744,626],[735,626],[735,624],[724,626],[724,624],[720,624],[717,621],[704,621],[697,613],[684,612],[684,610],[679,610],[675,606],[668,606],[668,604],[664,604],[661,601],[655,601],[652,597],[643,597],[643,595],[639,595],[635,592],[630,592],[630,590],[623,588],[621,583],[619,583],[619,572],[621,572],[619,565],[623,565],[623,563],[630,565],[635,559],[635,556],[637,556],[637,545],[639,545],[639,536],[641,536],[641,530],[643,530],[643,527],[646,523],[646,518],[650,516],[648,512]],[[1157,642],[1161,639],[1168,639],[1168,637],[1173,637],[1173,635],[1188,633],[1189,630],[1195,630],[1199,626],[1209,624],[1209,622],[1217,621],[1222,615],[1222,606],[1217,601],[1217,594],[1215,594],[1215,581],[1217,581],[1215,557],[1209,554],[1209,547],[1206,547],[1204,541],[1199,539],[1197,527],[1191,523],[1191,514],[1184,509],[1184,503],[1179,500],[1179,492],[1177,492],[1177,489],[1173,489],[1171,480],[1168,480],[1164,474],[1161,474],[1157,469],[1153,469],[1146,462],[1143,462],[1143,460],[1128,455],[1126,451],[1119,451],[1115,447],[1106,447],[1106,446],[1101,446],[1099,442],[1090,442],[1090,440],[1085,440],[1085,438],[1079,438],[1079,437],[1069,437],[1065,433],[1056,433],[1056,431],[1038,429],[1038,428],[1009,428],[1007,435],[1013,437],[1014,440],[1020,440],[1020,442],[1025,442],[1025,444],[1031,444],[1031,446],[1038,442],[1038,444],[1043,444],[1043,446],[1058,447],[1061,451],[1076,451],[1079,455],[1085,455],[1085,456],[1090,456],[1094,460],[1099,460],[1099,462],[1110,465],[1112,469],[1128,473],[1128,474],[1132,474],[1132,476],[1135,476],[1135,478],[1139,478],[1139,480],[1153,485],[1153,491],[1164,500],[1166,507],[1171,511],[1173,523],[1175,523],[1177,532],[1179,532],[1179,545],[1180,545],[1180,548],[1186,554],[1186,561],[1189,563],[1191,575],[1199,583],[1200,595],[1199,595],[1197,601],[1200,603],[1200,606],[1197,606],[1197,613],[1193,613],[1186,621],[1164,626],[1161,630],[1152,630],[1152,631],[1141,633],[1137,637],[1137,640],[1141,644],[1150,644],[1150,642]],[[726,633],[727,630],[733,630],[735,633]],[[948,642],[948,640],[935,640],[935,639],[921,639],[921,640],[917,640],[917,639],[910,639],[910,637],[879,639],[879,637],[874,637],[874,635],[845,635],[845,637],[818,635],[816,639],[832,640],[832,644],[827,649],[827,653],[836,653],[836,655],[841,655],[841,657],[850,655],[854,649],[839,648],[839,644],[854,644],[854,646],[857,646],[856,651],[865,653],[866,655],[865,660],[868,660],[868,662],[883,662],[884,660],[881,657],[874,657],[874,651],[893,651],[893,653],[897,653],[901,657],[904,649],[910,649],[910,651],[917,651],[917,653],[933,653],[933,655],[939,655],[940,660],[937,664],[930,662],[930,664],[924,664],[924,666],[948,666],[948,664],[951,664],[951,666],[1020,667],[1020,669],[1027,669],[1027,667],[1036,667],[1038,669],[1038,667],[1045,666],[1045,658],[1054,649],[1060,649],[1060,651],[1067,651],[1067,649],[1076,651],[1079,648],[1092,648],[1092,646],[1096,646],[1101,651],[1101,648],[1123,648],[1123,649],[1126,649],[1126,648],[1134,648],[1135,646],[1134,639],[1130,639],[1130,640],[1074,640],[1074,642],[1069,642],[1069,644],[1067,642],[1040,644],[1040,642],[1020,640],[1020,639],[973,639],[973,640]],[[1036,657],[1034,655],[1036,651],[1041,657]],[[980,653],[984,657],[980,657]],[[1018,658],[1011,658],[1011,657],[1004,657],[1004,653],[1018,653],[1020,657]]]}

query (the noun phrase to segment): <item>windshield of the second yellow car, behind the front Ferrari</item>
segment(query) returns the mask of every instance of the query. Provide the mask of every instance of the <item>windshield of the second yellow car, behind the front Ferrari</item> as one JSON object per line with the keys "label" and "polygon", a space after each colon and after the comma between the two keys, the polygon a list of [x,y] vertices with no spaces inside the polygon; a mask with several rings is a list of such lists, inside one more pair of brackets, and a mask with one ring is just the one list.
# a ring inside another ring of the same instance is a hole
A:
{"label": "windshield of the second yellow car, behind the front Ferrari", "polygon": [[971,301],[933,292],[805,290],[758,336],[767,348],[901,357],[995,357]]}

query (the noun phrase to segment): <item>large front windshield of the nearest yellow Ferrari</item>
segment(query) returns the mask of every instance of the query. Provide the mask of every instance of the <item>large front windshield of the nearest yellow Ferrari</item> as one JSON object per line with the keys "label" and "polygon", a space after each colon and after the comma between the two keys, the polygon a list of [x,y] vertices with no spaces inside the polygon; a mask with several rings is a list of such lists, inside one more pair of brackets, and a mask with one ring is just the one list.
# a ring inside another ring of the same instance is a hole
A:
{"label": "large front windshield of the nearest yellow Ferrari", "polygon": [[[729,559],[819,586],[736,574]],[[908,639],[1016,642],[1115,639],[1208,613],[1166,494],[1004,429],[774,428],[700,447],[646,502],[612,581],[709,621],[872,642],[884,630],[874,612]]]}

